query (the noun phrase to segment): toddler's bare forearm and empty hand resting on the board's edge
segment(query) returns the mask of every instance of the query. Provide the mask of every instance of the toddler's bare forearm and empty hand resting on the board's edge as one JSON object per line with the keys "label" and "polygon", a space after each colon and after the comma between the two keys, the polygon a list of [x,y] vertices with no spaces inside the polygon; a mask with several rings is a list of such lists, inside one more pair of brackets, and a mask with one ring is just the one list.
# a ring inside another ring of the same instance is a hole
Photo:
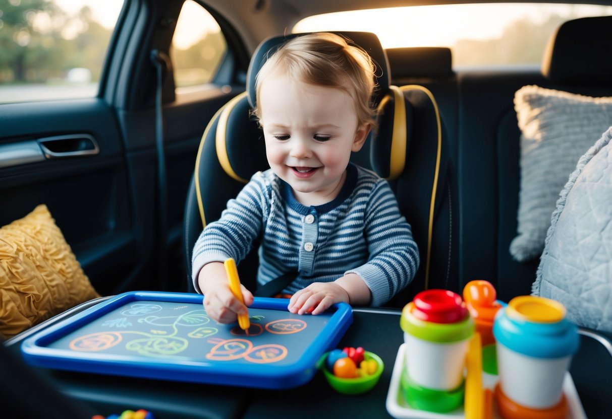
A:
{"label": "toddler's bare forearm and empty hand resting on the board's edge", "polygon": [[346,274],[334,282],[315,282],[297,291],[289,301],[289,312],[318,315],[337,302],[367,305],[370,300],[370,288],[364,280],[357,274]]}

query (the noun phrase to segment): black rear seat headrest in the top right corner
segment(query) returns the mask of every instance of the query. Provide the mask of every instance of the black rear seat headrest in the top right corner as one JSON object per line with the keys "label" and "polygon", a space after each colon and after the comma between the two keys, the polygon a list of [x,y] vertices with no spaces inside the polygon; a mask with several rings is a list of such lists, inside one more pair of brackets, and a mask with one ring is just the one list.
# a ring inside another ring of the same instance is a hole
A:
{"label": "black rear seat headrest in the top right corner", "polygon": [[542,75],[554,82],[612,82],[612,16],[559,26],[544,54]]}

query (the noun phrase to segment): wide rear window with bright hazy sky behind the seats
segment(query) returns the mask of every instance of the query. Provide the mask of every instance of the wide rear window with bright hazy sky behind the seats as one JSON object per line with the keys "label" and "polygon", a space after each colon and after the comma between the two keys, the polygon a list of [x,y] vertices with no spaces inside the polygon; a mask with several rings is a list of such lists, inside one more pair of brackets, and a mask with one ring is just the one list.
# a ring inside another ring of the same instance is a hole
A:
{"label": "wide rear window with bright hazy sky behind the seats", "polygon": [[384,48],[447,46],[453,67],[539,65],[559,24],[610,14],[610,6],[589,4],[428,5],[310,16],[293,32],[370,31]]}

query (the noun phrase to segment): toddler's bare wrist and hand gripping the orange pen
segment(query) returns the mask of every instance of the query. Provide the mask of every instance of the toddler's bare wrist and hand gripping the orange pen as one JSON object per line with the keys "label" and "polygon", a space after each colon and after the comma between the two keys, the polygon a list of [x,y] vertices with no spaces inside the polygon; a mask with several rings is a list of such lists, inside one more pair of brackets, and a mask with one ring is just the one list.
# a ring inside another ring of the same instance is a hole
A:
{"label": "toddler's bare wrist and hand gripping the orange pen", "polygon": [[198,274],[198,285],[204,294],[206,314],[220,323],[236,321],[238,315],[246,314],[247,307],[253,304],[253,294],[242,284],[244,304],[234,297],[225,273],[225,266],[221,262],[205,264]]}

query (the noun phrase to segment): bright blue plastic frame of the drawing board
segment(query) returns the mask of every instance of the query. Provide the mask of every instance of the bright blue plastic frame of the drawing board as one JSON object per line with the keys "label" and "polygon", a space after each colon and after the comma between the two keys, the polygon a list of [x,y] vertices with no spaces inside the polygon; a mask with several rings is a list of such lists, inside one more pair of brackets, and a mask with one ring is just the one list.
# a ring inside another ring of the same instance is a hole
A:
{"label": "bright blue plastic frame of the drawing board", "polygon": [[[298,316],[288,312],[287,299],[255,297],[255,301],[253,301],[253,305],[250,307],[249,315],[261,312],[269,313],[271,316],[280,316],[281,318],[293,318],[296,322],[301,321],[304,323],[304,330],[308,329],[308,322],[315,322],[315,320],[318,322],[318,325],[312,327],[312,330],[309,331],[309,333],[316,331],[316,336],[311,335],[310,338],[307,339],[301,337],[297,339],[295,347],[299,349],[296,349],[296,356],[293,357],[293,360],[288,361],[283,359],[282,362],[272,363],[258,363],[263,362],[261,360],[245,362],[242,359],[231,359],[230,362],[228,362],[228,360],[220,361],[214,358],[215,355],[213,351],[209,352],[211,355],[206,355],[211,356],[212,358],[210,359],[204,357],[201,357],[201,359],[194,359],[193,357],[174,355],[163,356],[159,354],[148,356],[134,352],[125,352],[122,354],[81,352],[81,349],[78,351],[70,349],[72,346],[69,348],[62,347],[62,339],[70,340],[73,335],[81,333],[83,330],[88,330],[88,327],[94,327],[91,325],[98,320],[103,320],[103,318],[105,318],[104,316],[113,315],[116,310],[119,312],[119,309],[122,308],[125,311],[125,307],[129,304],[151,305],[149,303],[159,302],[157,305],[162,305],[166,303],[176,303],[176,308],[196,304],[199,305],[202,313],[201,315],[197,314],[196,318],[201,319],[206,315],[202,307],[202,301],[203,296],[200,294],[162,293],[153,291],[132,291],[119,294],[81,313],[64,319],[58,322],[58,324],[41,330],[22,343],[21,352],[23,353],[24,360],[31,365],[59,370],[171,381],[200,382],[204,384],[281,389],[297,387],[310,381],[316,373],[317,362],[321,358],[321,355],[337,346],[338,341],[340,341],[351,325],[351,322],[353,322],[353,310],[348,304],[335,304],[334,307],[330,308],[330,310],[323,315]],[[179,307],[179,305],[182,306]],[[134,306],[132,305],[131,307]],[[195,312],[195,310],[192,310],[192,312]],[[255,322],[258,317],[264,316],[255,316]],[[297,319],[297,317],[299,317],[299,319]],[[212,319],[210,321],[213,326],[219,327],[225,334],[228,333],[227,328],[237,328],[236,324],[221,325],[216,324]],[[272,321],[271,323],[274,322],[275,321]],[[266,324],[266,330],[267,326]],[[115,335],[120,335],[120,332],[108,332],[107,334],[113,335],[113,333]],[[291,333],[295,333],[296,336],[299,334],[296,332]],[[283,333],[279,332],[278,334]],[[251,336],[238,336],[236,340],[239,341],[238,343],[240,344],[240,341],[250,340],[251,338]],[[276,338],[277,337],[274,337],[274,339]],[[217,338],[213,338],[213,340],[214,339]],[[291,339],[296,341],[295,337]],[[74,339],[72,342],[76,340],[78,339]],[[218,338],[218,340],[224,341],[220,338]],[[72,345],[72,342],[70,345]],[[215,348],[217,348],[217,346],[215,346]],[[264,344],[263,346],[266,345]],[[269,346],[280,345],[271,344]],[[261,348],[261,346],[256,346],[253,349],[256,348]],[[259,351],[261,351],[261,349],[259,349]],[[278,351],[280,351],[280,349]],[[286,350],[285,353],[287,352],[291,351]],[[225,356],[225,352],[218,353]],[[253,351],[248,352],[247,350],[247,355],[253,353]]]}

